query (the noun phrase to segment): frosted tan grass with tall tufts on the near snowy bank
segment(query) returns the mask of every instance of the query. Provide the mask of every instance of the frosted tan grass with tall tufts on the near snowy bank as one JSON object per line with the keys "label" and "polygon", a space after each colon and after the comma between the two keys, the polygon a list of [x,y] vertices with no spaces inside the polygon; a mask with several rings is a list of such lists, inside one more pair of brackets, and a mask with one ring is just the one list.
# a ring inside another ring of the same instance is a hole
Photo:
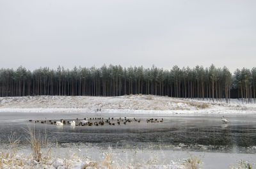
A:
{"label": "frosted tan grass with tall tufts on the near snowy bank", "polygon": [[[46,135],[43,139],[40,135],[36,135],[33,129],[29,128],[25,131],[30,136],[28,142],[31,149],[19,147],[19,138],[15,133],[11,133],[8,148],[5,145],[0,151],[0,168],[184,168],[186,166],[173,161],[168,165],[155,165],[156,161],[151,159],[147,163],[134,163],[134,161],[125,163],[122,158],[117,158],[114,161],[111,158],[111,152],[108,151],[100,152],[99,154],[103,155],[102,159],[97,158],[96,161],[88,158],[86,154],[79,156],[74,151],[70,153],[70,151],[63,151],[58,147],[52,149],[45,142]],[[79,151],[81,150],[79,149]]]}

